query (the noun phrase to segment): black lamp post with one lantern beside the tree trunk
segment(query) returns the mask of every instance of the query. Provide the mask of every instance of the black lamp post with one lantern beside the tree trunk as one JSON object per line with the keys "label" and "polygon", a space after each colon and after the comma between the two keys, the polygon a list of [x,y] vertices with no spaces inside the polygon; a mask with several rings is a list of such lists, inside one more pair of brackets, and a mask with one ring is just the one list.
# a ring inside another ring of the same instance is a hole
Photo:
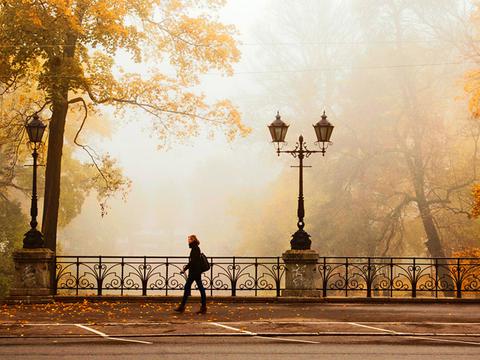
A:
{"label": "black lamp post with one lantern beside the tree trunk", "polygon": [[47,126],[39,119],[38,115],[35,114],[26,125],[25,128],[28,133],[28,139],[33,148],[33,185],[32,185],[32,205],[30,207],[30,215],[32,217],[30,221],[30,230],[25,233],[23,238],[23,248],[24,249],[36,249],[43,247],[43,235],[37,230],[37,158],[38,158],[38,148],[42,143],[43,133]]}

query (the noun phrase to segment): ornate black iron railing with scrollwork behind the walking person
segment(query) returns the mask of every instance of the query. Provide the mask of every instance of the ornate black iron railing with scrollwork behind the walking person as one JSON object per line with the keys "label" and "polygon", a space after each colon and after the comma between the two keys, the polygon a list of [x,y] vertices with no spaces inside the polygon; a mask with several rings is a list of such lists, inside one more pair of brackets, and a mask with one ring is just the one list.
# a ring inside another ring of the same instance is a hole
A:
{"label": "ornate black iron railing with scrollwork behind the walking person", "polygon": [[[281,257],[210,257],[202,275],[210,295],[280,296]],[[58,256],[56,293],[70,295],[181,294],[187,257]],[[321,257],[316,287],[323,297],[480,296],[479,258]],[[479,295],[477,295],[479,294]]]}

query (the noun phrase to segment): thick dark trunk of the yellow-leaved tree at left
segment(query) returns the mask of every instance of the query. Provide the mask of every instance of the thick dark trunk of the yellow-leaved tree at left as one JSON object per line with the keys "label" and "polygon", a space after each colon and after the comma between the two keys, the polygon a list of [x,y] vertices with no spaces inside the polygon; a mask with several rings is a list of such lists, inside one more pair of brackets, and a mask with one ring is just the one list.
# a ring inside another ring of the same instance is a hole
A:
{"label": "thick dark trunk of the yellow-leaved tree at left", "polygon": [[42,232],[45,237],[45,247],[52,251],[57,249],[57,223],[60,205],[60,177],[62,170],[62,149],[65,122],[68,111],[65,92],[63,101],[52,105],[48,135],[47,167],[45,170],[45,202],[43,205]]}

